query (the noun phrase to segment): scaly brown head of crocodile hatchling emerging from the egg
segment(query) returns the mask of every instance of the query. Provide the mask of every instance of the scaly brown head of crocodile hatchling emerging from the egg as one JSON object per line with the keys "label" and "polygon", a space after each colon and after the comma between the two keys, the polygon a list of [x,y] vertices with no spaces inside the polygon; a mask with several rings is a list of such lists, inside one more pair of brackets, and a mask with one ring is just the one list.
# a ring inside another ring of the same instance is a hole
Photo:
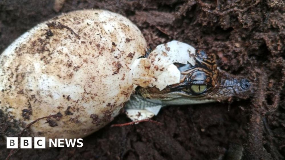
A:
{"label": "scaly brown head of crocodile hatchling emerging from the egg", "polygon": [[[214,54],[196,49],[196,65],[174,63],[181,73],[180,83],[163,90],[138,87],[126,108],[143,109],[152,106],[186,105],[225,101],[232,97],[247,99],[252,93],[251,82],[229,74],[217,67]],[[192,85],[205,90],[195,93]]]}

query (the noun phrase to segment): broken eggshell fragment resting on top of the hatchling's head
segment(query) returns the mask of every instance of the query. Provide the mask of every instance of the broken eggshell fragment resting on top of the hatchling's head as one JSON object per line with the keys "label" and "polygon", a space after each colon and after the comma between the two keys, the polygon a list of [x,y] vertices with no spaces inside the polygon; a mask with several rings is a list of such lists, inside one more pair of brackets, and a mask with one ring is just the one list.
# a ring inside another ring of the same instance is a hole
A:
{"label": "broken eggshell fragment resting on top of the hatchling's head", "polygon": [[158,45],[147,58],[137,59],[132,66],[133,83],[142,87],[166,86],[180,82],[180,71],[173,63],[195,66],[195,48],[179,41]]}

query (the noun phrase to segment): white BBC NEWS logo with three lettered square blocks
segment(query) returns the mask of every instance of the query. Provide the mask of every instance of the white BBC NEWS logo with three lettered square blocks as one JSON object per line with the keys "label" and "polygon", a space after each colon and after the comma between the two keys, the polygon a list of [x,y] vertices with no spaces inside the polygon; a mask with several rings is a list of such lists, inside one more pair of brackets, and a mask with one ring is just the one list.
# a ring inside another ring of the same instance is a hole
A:
{"label": "white BBC NEWS logo with three lettered square blocks", "polygon": [[[82,138],[56,138],[54,140],[49,139],[49,147],[82,147],[82,141]],[[7,137],[7,148],[18,148],[18,137]],[[20,148],[32,148],[32,137],[21,137]],[[46,138],[34,137],[34,148],[46,148]]]}

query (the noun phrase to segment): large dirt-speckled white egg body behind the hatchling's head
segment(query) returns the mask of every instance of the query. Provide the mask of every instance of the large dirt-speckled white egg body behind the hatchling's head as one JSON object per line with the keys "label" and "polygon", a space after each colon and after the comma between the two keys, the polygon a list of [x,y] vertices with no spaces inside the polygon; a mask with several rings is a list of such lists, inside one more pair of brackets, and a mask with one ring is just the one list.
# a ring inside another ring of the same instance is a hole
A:
{"label": "large dirt-speckled white egg body behind the hatchling's head", "polygon": [[0,56],[1,113],[15,134],[60,112],[33,124],[33,136],[87,136],[129,100],[130,67],[145,51],[141,31],[120,14],[83,10],[43,22]]}

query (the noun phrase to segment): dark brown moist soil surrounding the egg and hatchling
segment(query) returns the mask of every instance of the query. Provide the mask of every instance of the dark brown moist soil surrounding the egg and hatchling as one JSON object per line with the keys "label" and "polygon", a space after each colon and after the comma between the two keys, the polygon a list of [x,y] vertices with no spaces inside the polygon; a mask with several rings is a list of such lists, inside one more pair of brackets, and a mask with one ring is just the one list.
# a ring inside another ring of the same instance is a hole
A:
{"label": "dark brown moist soil surrounding the egg and hatchling", "polygon": [[[163,108],[152,122],[111,127],[81,148],[21,149],[11,159],[217,159],[243,146],[243,159],[285,157],[285,5],[282,0],[0,0],[0,53],[39,22],[73,10],[127,16],[149,46],[178,40],[216,53],[218,65],[254,81],[250,99]],[[1,124],[3,126],[3,124]],[[0,126],[1,127],[1,126]],[[0,132],[1,133],[1,132]],[[0,159],[9,154],[0,139]],[[230,159],[230,158],[228,158]]]}

